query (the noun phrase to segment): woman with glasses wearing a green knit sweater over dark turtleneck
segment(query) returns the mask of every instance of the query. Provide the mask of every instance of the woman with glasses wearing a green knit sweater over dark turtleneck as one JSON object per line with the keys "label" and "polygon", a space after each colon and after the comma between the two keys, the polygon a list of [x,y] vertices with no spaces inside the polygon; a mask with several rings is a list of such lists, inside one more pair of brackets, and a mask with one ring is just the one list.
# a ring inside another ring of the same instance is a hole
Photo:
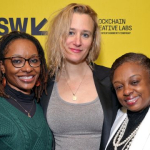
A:
{"label": "woman with glasses wearing a green knit sweater over dark turtleneck", "polygon": [[36,38],[19,31],[0,38],[0,149],[51,150],[52,134],[37,103],[46,79]]}

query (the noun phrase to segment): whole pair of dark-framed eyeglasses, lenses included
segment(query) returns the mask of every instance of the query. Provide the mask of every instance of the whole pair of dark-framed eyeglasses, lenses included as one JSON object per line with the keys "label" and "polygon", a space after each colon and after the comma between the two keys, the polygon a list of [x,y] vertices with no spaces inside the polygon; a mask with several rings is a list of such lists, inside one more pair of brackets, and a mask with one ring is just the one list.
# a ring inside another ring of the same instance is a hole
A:
{"label": "whole pair of dark-framed eyeglasses, lenses included", "polygon": [[14,67],[16,68],[21,68],[25,65],[25,62],[28,61],[29,65],[33,68],[39,67],[41,65],[40,57],[39,56],[34,56],[29,59],[25,59],[23,57],[7,57],[3,58],[5,59],[10,59],[11,63]]}

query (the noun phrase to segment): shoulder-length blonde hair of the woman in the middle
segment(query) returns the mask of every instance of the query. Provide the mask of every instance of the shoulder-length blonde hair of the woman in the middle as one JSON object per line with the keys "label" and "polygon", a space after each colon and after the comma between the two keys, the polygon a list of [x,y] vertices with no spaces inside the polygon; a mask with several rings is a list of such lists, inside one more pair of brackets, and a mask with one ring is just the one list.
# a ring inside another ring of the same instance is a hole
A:
{"label": "shoulder-length blonde hair of the woman in the middle", "polygon": [[65,48],[64,43],[68,37],[74,13],[87,14],[92,18],[94,23],[93,42],[86,62],[90,65],[98,58],[100,52],[100,31],[97,13],[88,5],[71,3],[61,9],[49,23],[46,52],[50,77],[54,76],[64,65],[62,49]]}

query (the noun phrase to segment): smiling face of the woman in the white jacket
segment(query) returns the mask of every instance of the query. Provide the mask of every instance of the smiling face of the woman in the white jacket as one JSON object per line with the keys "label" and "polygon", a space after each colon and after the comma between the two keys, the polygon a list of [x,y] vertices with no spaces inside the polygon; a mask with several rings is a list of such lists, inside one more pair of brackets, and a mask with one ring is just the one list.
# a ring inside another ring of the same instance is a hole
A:
{"label": "smiling face of the woman in the white jacket", "polygon": [[142,65],[123,63],[114,72],[113,86],[127,109],[139,111],[150,105],[150,75]]}

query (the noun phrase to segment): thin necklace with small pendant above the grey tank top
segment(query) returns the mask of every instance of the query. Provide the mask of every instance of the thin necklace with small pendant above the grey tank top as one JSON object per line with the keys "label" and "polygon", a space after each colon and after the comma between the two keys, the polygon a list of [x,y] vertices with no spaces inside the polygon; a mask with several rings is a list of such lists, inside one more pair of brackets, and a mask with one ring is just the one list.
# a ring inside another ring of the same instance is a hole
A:
{"label": "thin necklace with small pendant above the grey tank top", "polygon": [[69,85],[69,83],[68,83],[68,81],[67,81],[67,78],[66,78],[66,71],[65,71],[65,80],[66,80],[66,83],[67,83],[67,85],[68,85],[68,87],[69,87],[69,89],[70,89],[70,91],[71,91],[71,93],[72,93],[72,95],[73,95],[73,97],[72,97],[72,100],[73,100],[73,101],[76,101],[76,100],[77,100],[76,94],[77,94],[77,92],[78,92],[78,90],[79,90],[79,88],[80,88],[81,83],[83,82],[83,79],[84,79],[84,77],[85,77],[85,75],[86,75],[86,72],[87,72],[87,70],[85,71],[85,74],[84,74],[84,76],[83,76],[83,78],[82,78],[80,84],[78,85],[76,91],[73,92],[72,89],[71,89],[71,87],[70,87],[70,85]]}

